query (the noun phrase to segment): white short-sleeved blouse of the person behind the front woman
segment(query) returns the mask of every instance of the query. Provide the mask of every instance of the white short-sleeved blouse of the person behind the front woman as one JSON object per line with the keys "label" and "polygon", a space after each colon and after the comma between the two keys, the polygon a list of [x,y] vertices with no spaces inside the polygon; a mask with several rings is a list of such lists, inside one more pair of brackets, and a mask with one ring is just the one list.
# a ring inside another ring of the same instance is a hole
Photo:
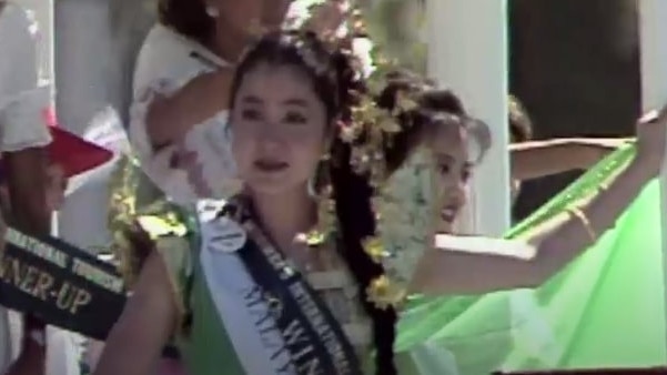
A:
{"label": "white short-sleeved blouse of the person behind the front woman", "polygon": [[[173,94],[194,78],[212,72],[224,61],[198,42],[161,24],[146,37],[134,71],[130,110],[130,142],[141,169],[171,200],[188,204],[199,197],[224,199],[235,188],[235,165],[226,130],[228,111],[192,128],[182,142],[153,150],[145,118],[155,95]],[[214,93],[211,93],[214,94]],[[196,163],[173,168],[173,159],[195,153]]]}

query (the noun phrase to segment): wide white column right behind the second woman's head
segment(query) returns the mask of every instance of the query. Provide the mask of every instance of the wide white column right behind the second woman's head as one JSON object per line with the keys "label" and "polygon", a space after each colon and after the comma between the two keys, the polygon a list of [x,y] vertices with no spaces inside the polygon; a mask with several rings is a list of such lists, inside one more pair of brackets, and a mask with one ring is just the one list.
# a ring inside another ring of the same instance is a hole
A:
{"label": "wide white column right behind the second woman's head", "polygon": [[462,229],[501,235],[509,229],[506,0],[429,0],[428,74],[484,120],[493,146],[475,171]]}

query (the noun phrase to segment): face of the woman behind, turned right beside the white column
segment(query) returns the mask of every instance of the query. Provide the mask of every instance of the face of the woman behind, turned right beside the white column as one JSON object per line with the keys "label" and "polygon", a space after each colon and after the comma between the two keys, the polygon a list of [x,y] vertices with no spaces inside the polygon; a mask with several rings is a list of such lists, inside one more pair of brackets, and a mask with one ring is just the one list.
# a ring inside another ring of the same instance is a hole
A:
{"label": "face of the woman behind, turned right beside the white column", "polygon": [[473,163],[468,152],[468,132],[459,125],[437,126],[431,138],[435,158],[436,202],[439,233],[449,233],[461,209],[467,201],[467,184]]}

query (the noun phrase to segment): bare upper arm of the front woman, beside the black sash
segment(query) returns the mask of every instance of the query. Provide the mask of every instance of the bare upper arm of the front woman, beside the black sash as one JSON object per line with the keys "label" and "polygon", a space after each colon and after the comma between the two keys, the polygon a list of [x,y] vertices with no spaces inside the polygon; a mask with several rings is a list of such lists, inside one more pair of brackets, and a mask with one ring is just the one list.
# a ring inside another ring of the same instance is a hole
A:
{"label": "bare upper arm of the front woman, beside the black sash", "polygon": [[151,374],[178,320],[168,268],[153,252],[111,331],[94,375]]}

